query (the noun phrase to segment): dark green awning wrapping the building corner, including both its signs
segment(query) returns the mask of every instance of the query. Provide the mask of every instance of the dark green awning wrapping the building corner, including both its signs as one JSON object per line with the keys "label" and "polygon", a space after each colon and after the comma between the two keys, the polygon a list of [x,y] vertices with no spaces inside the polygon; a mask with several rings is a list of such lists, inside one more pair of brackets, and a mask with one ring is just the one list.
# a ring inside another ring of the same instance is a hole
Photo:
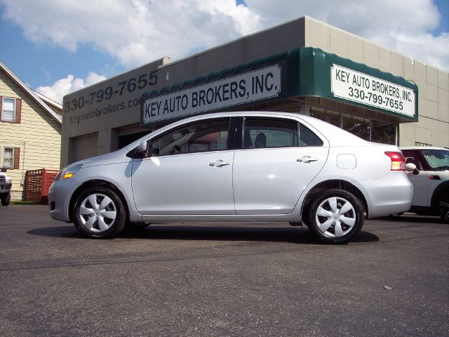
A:
{"label": "dark green awning wrapping the building corner, including both its signs", "polygon": [[307,96],[417,121],[417,91],[402,77],[302,47],[144,93],[141,125]]}

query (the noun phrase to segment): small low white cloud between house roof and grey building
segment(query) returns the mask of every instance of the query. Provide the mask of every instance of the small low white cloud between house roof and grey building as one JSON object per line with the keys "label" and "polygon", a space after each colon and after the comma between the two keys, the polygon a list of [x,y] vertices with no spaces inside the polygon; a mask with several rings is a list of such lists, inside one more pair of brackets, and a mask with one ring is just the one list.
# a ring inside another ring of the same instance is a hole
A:
{"label": "small low white cloud between house roof and grey building", "polygon": [[51,86],[39,86],[36,88],[36,91],[51,98],[55,102],[62,104],[62,98],[64,95],[67,95],[67,93],[86,88],[86,86],[91,86],[105,79],[106,77],[95,74],[95,72],[89,72],[86,79],[80,79],[69,74],[65,79],[58,79],[58,81],[55,81]]}

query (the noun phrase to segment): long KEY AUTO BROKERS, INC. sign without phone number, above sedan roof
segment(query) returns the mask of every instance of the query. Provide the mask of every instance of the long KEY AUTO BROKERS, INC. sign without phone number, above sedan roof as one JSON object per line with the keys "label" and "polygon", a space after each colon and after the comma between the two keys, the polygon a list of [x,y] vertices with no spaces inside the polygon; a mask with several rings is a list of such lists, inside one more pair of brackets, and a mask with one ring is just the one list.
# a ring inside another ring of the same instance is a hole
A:
{"label": "long KEY AUTO BROKERS, INC. sign without phone number, above sedan roof", "polygon": [[173,119],[276,97],[281,92],[281,67],[272,65],[227,79],[148,98],[142,123]]}

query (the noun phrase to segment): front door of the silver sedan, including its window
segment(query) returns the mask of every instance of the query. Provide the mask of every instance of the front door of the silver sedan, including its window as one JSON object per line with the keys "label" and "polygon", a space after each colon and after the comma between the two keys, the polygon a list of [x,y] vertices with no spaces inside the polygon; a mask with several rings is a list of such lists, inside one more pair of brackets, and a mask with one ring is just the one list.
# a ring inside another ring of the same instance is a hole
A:
{"label": "front door of the silver sedan, including its window", "polygon": [[140,214],[234,214],[229,118],[177,126],[134,159],[132,186]]}

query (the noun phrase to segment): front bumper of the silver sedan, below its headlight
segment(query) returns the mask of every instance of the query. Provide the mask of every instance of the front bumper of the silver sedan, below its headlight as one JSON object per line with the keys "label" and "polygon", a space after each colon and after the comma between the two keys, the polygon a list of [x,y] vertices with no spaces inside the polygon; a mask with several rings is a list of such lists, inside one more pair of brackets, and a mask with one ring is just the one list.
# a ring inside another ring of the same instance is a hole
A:
{"label": "front bumper of the silver sedan, below its headlight", "polygon": [[70,199],[75,190],[81,185],[75,180],[64,179],[53,182],[48,190],[48,208],[54,220],[69,222]]}

